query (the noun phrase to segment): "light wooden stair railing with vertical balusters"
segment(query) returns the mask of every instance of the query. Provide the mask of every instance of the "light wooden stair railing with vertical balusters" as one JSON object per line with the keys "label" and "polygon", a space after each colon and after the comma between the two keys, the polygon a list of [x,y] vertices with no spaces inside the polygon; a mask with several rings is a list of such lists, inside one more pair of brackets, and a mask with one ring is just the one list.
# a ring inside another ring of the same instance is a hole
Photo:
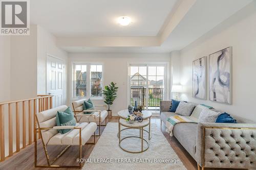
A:
{"label": "light wooden stair railing with vertical balusters", "polygon": [[[36,128],[34,116],[38,112],[52,108],[52,97],[52,95],[37,95],[32,99],[0,103],[0,162],[34,142],[33,132]],[[15,117],[15,123],[13,117]],[[8,121],[6,121],[7,119]],[[5,130],[6,124],[8,124],[8,129]],[[5,133],[8,136],[5,136]],[[13,143],[14,133],[15,143]],[[20,143],[20,133],[22,133],[22,143]],[[20,144],[22,144],[22,148],[20,148]],[[13,145],[16,148],[15,151],[13,151]],[[6,156],[7,151],[9,154]]]}

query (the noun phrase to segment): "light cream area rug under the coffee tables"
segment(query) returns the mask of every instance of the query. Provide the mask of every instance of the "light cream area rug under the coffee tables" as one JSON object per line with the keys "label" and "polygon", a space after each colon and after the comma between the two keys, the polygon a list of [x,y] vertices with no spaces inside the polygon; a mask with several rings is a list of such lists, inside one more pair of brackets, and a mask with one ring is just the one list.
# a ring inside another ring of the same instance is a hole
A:
{"label": "light cream area rug under the coffee tables", "polygon": [[[178,155],[172,149],[156,124],[151,125],[152,137],[149,148],[143,153],[127,153],[119,148],[117,137],[118,123],[108,123],[96,143],[83,170],[98,169],[186,169]],[[129,129],[122,131],[121,137],[128,135],[139,136],[139,130]],[[143,133],[147,138],[147,133]],[[143,143],[146,145],[146,143]],[[139,138],[127,138],[122,142],[125,149],[140,149]]]}

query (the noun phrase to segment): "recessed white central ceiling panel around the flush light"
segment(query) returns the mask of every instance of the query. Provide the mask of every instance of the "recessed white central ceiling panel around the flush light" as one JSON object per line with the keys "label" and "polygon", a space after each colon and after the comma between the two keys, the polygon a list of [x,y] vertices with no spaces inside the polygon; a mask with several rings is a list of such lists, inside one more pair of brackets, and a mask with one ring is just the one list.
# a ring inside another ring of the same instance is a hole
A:
{"label": "recessed white central ceiling panel around the flush light", "polygon": [[[31,22],[56,36],[156,36],[177,0],[32,0]],[[132,18],[118,25],[119,16]]]}

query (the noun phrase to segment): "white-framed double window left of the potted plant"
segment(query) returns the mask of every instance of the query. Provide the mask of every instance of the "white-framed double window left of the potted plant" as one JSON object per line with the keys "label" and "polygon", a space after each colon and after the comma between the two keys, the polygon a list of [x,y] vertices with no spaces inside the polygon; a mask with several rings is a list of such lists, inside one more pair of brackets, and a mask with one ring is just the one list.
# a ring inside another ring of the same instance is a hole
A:
{"label": "white-framed double window left of the potted plant", "polygon": [[102,64],[73,64],[73,98],[102,99],[102,86]]}

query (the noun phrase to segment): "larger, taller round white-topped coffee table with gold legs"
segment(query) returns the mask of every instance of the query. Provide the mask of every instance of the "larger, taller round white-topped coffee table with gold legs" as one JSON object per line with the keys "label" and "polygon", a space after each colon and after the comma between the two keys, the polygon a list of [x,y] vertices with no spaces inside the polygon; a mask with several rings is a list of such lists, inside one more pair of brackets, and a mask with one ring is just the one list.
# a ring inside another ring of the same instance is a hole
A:
{"label": "larger, taller round white-topped coffee table with gold legs", "polygon": [[[129,111],[128,111],[128,109],[125,109],[125,110],[121,110],[121,111],[119,111],[118,113],[118,119],[120,120],[120,119],[126,119],[126,117],[128,116],[128,115],[130,115],[130,113],[129,113]],[[148,124],[148,131],[146,130],[146,129],[143,129],[143,131],[145,131],[145,132],[147,132],[148,133],[148,140],[150,140],[151,139],[151,116],[152,116],[152,113],[150,112],[150,111],[147,111],[147,110],[143,110],[142,111],[142,117],[143,117],[143,122],[144,122],[144,120],[146,120],[146,119],[148,119],[148,121],[149,121],[149,124]],[[119,120],[118,120],[118,122],[119,122]],[[124,128],[124,129],[122,129],[121,131],[123,131],[123,130],[126,130],[126,129],[131,129],[131,127],[126,127],[126,128]],[[119,133],[117,134],[117,137],[119,137]]]}

